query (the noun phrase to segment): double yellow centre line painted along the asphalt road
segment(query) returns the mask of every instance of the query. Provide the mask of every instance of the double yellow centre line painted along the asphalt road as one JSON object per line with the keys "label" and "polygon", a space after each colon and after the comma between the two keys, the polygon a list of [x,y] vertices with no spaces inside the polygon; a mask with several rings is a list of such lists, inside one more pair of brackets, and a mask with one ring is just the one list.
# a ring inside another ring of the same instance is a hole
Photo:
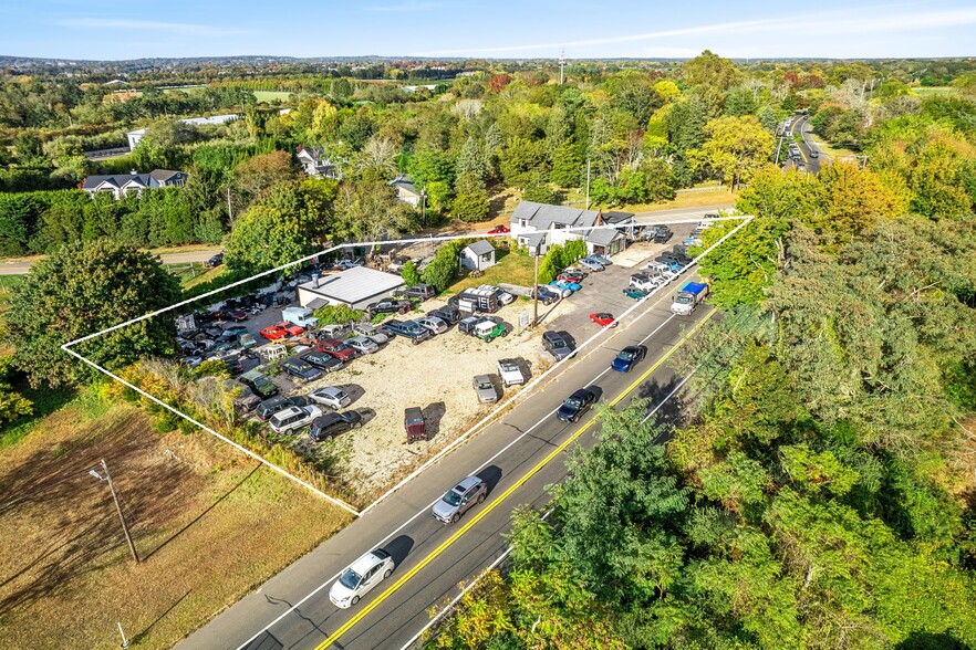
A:
{"label": "double yellow centre line painted along the asphalt road", "polygon": [[[647,370],[645,370],[643,375],[641,375],[640,377],[637,377],[637,379],[634,380],[633,384],[631,384],[630,386],[627,386],[627,388],[626,388],[623,392],[621,392],[619,396],[616,396],[616,397],[613,399],[613,401],[611,401],[610,403],[608,403],[608,406],[609,406],[610,408],[615,407],[616,405],[619,405],[619,403],[621,402],[621,400],[622,400],[623,398],[625,398],[627,395],[630,395],[630,394],[634,390],[634,388],[636,388],[636,387],[640,386],[645,379],[647,379],[647,377],[650,377],[652,373],[654,373],[657,368],[661,367],[662,364],[664,364],[667,359],[671,358],[671,356],[675,353],[675,350],[677,350],[681,346],[683,346],[685,343],[687,343],[687,340],[688,340],[688,339],[689,339],[689,338],[691,338],[691,337],[692,337],[692,336],[693,336],[698,329],[700,329],[700,328],[705,325],[705,323],[708,322],[708,319],[709,319],[709,317],[712,316],[712,313],[713,313],[714,311],[715,311],[714,308],[710,310],[710,311],[708,312],[708,314],[705,315],[704,318],[702,318],[700,321],[698,321],[698,323],[696,323],[694,327],[692,327],[691,329],[688,329],[687,333],[685,333],[685,335],[681,338],[681,340],[677,342],[677,344],[675,344],[674,347],[672,347],[669,350],[667,350],[667,353],[665,353],[660,359],[657,359],[657,360],[654,363],[653,366],[651,366],[650,368],[647,368]],[[544,468],[547,464],[549,464],[549,463],[550,463],[556,457],[558,457],[560,453],[562,453],[563,451],[565,451],[565,449],[567,449],[570,444],[572,444],[573,442],[575,442],[575,441],[580,438],[580,436],[582,436],[584,432],[586,432],[586,431],[590,429],[590,427],[592,427],[592,426],[596,422],[596,420],[598,420],[599,418],[600,418],[600,416],[598,415],[595,418],[593,418],[592,420],[590,420],[586,424],[583,424],[582,427],[580,427],[580,428],[579,428],[575,432],[573,432],[573,434],[570,436],[570,437],[569,437],[569,438],[568,438],[562,444],[560,444],[559,447],[557,447],[556,449],[553,449],[553,450],[549,453],[549,455],[547,455],[546,458],[543,458],[541,461],[539,461],[539,463],[538,463],[536,466],[533,466],[533,468],[530,469],[528,472],[526,472],[525,475],[522,475],[521,479],[519,479],[518,481],[516,481],[515,483],[512,483],[511,486],[509,486],[508,490],[506,490],[505,492],[502,492],[502,493],[501,493],[501,494],[500,494],[495,501],[492,501],[492,502],[489,503],[487,506],[485,506],[484,509],[481,509],[481,510],[478,512],[477,515],[475,515],[474,517],[471,517],[470,521],[468,521],[465,525],[463,525],[460,528],[458,528],[457,531],[455,531],[455,533],[454,533],[450,537],[448,537],[447,539],[445,539],[445,541],[444,541],[444,542],[443,542],[437,548],[435,548],[434,551],[432,551],[432,552],[430,552],[430,553],[429,553],[424,559],[422,559],[422,560],[418,562],[413,568],[411,568],[411,570],[408,570],[408,572],[405,573],[403,576],[401,576],[399,579],[396,580],[394,584],[392,584],[392,585],[391,585],[385,591],[383,591],[383,594],[381,594],[381,595],[380,595],[378,597],[376,597],[372,602],[370,602],[368,605],[366,605],[363,609],[361,609],[361,610],[360,610],[355,616],[353,616],[351,619],[349,619],[347,621],[345,621],[345,622],[344,622],[344,623],[343,623],[338,630],[335,630],[335,631],[334,631],[334,632],[333,632],[328,639],[325,639],[324,641],[322,641],[322,642],[315,648],[315,650],[325,650],[326,648],[329,648],[330,646],[332,646],[335,641],[338,641],[343,635],[345,635],[345,633],[346,633],[350,629],[352,629],[357,622],[360,622],[363,618],[365,618],[371,611],[373,611],[374,609],[376,609],[376,608],[377,608],[377,607],[378,607],[384,600],[386,600],[387,598],[390,598],[390,596],[392,596],[397,589],[399,589],[401,587],[403,587],[403,586],[404,586],[404,585],[405,585],[411,578],[413,578],[413,577],[414,577],[415,575],[417,575],[420,570],[423,570],[424,567],[426,567],[426,566],[427,566],[428,564],[430,564],[432,562],[434,562],[434,559],[436,559],[442,553],[444,553],[448,547],[450,547],[451,544],[454,544],[455,542],[457,542],[458,539],[460,539],[460,537],[461,537],[465,533],[467,533],[468,531],[470,531],[471,527],[476,526],[476,525],[478,524],[478,522],[480,522],[482,518],[485,518],[486,516],[488,516],[488,514],[489,514],[492,510],[495,510],[495,509],[496,509],[499,504],[501,504],[506,499],[508,499],[509,496],[511,496],[511,494],[512,494],[516,490],[518,490],[519,488],[521,488],[522,485],[525,485],[526,482],[527,482],[529,479],[531,479],[531,478],[534,476],[537,473],[539,473],[539,471],[540,471],[542,468]]]}

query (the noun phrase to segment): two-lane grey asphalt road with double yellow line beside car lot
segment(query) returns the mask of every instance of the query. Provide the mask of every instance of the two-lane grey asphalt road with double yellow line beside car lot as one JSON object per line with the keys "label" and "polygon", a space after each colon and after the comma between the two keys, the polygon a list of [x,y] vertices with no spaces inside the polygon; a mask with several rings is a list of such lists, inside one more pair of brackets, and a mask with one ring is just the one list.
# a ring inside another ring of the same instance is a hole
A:
{"label": "two-lane grey asphalt road with double yellow line beside car lot", "polygon": [[[655,294],[500,421],[245,597],[179,648],[403,648],[427,623],[432,606],[450,600],[459,583],[503,553],[502,533],[515,506],[544,505],[546,485],[565,473],[562,450],[577,437],[583,444],[592,443],[592,412],[578,424],[563,423],[552,415],[570,392],[590,386],[602,402],[625,406],[642,397],[653,407],[674,390],[681,378],[666,359],[712,313],[703,306],[691,317],[673,316],[668,311],[671,295],[681,283]],[[630,374],[609,370],[616,353],[632,344],[646,345],[647,358]],[[430,516],[430,506],[469,474],[488,482],[488,500],[454,526],[442,525]],[[345,566],[376,547],[393,555],[396,572],[355,607],[338,609],[329,600],[329,587]]]}

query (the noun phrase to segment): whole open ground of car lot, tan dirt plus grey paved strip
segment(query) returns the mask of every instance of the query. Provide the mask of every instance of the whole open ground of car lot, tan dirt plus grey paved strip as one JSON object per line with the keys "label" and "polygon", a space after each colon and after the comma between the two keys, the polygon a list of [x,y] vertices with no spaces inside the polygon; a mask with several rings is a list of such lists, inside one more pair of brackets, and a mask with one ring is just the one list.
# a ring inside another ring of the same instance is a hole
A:
{"label": "whole open ground of car lot, tan dirt plus grey paved strip", "polygon": [[[414,466],[418,457],[429,455],[466,431],[494,408],[491,402],[479,399],[473,386],[476,375],[487,375],[498,392],[498,401],[509,397],[517,386],[503,387],[498,375],[500,359],[518,359],[527,378],[536,377],[552,365],[554,359],[543,349],[541,334],[553,329],[568,335],[573,346],[589,338],[599,329],[590,318],[591,313],[620,315],[634,304],[622,293],[631,273],[664,250],[682,241],[693,224],[676,228],[674,238],[666,244],[636,242],[604,271],[589,273],[581,282],[579,294],[554,304],[539,306],[542,326],[538,331],[520,331],[520,316],[531,317],[532,303],[519,298],[494,314],[508,328],[507,336],[479,339],[463,334],[451,326],[419,345],[394,337],[373,354],[357,355],[341,369],[324,373],[309,381],[280,371],[282,360],[261,366],[283,397],[308,396],[312,390],[336,387],[346,392],[351,401],[343,410],[363,416],[362,427],[351,428],[335,438],[321,442],[309,438],[307,429],[291,434],[297,451],[316,453],[322,445],[332,454],[344,458],[344,479],[364,502],[382,490],[397,475]],[[620,261],[620,263],[617,263]],[[445,300],[434,298],[420,304],[420,312],[392,315],[397,319],[417,318],[424,313],[443,306]],[[260,331],[281,322],[281,311],[293,303],[268,307],[240,323],[263,346],[269,342]],[[229,325],[229,323],[227,324]],[[311,348],[300,347],[295,340],[285,342],[295,358]],[[249,359],[248,369],[258,365]],[[408,445],[403,427],[405,407],[418,407],[427,421],[429,440]],[[332,409],[325,405],[323,411]]]}

